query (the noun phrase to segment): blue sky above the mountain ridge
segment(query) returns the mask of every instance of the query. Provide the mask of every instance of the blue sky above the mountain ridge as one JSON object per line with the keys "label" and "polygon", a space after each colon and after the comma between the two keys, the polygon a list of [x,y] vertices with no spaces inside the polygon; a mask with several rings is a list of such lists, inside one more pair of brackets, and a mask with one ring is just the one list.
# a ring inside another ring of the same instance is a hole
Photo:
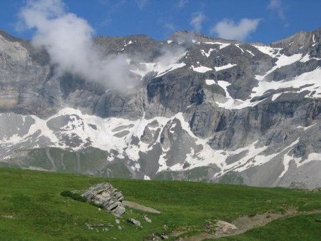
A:
{"label": "blue sky above the mountain ridge", "polygon": [[[190,30],[224,39],[270,43],[321,27],[320,0],[49,1],[63,1],[67,12],[88,21],[94,36],[147,34],[163,40],[175,31]],[[17,15],[26,2],[0,0],[0,29],[31,39],[31,30],[16,29]]]}

